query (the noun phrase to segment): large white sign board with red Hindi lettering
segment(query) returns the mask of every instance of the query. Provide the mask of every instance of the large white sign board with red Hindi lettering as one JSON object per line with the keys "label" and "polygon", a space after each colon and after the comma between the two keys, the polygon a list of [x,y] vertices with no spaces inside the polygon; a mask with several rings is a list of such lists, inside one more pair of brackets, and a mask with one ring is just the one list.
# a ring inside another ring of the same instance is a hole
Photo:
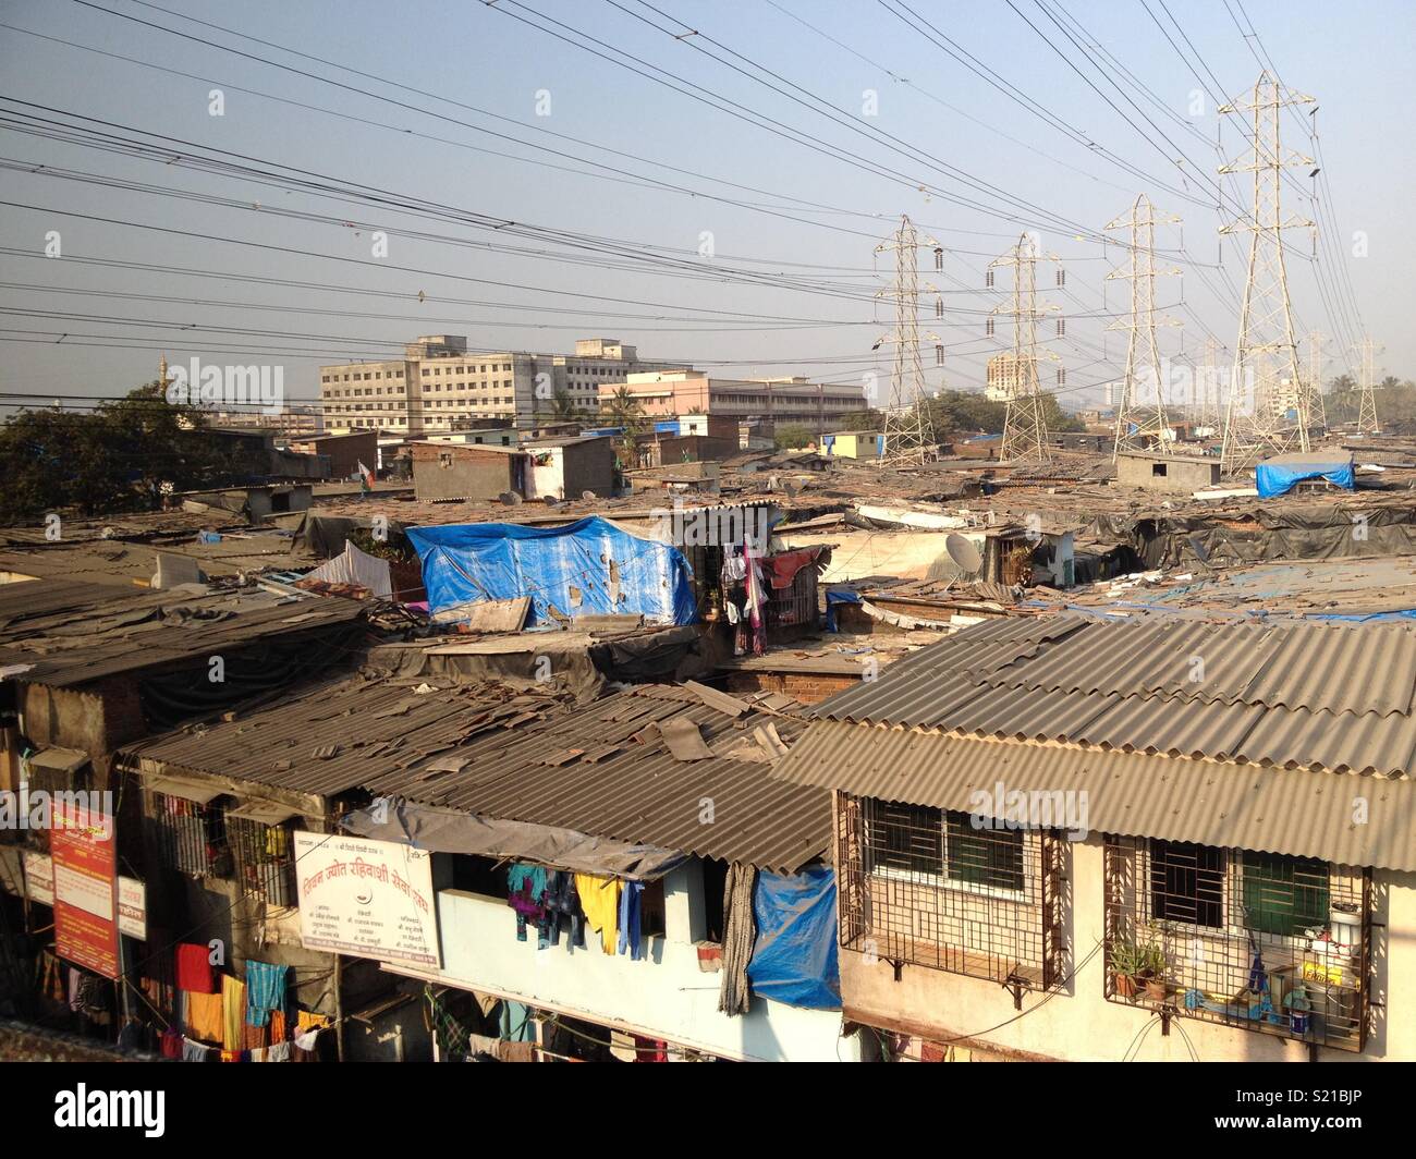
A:
{"label": "large white sign board with red Hindi lettering", "polygon": [[295,859],[307,948],[442,968],[428,850],[296,832]]}

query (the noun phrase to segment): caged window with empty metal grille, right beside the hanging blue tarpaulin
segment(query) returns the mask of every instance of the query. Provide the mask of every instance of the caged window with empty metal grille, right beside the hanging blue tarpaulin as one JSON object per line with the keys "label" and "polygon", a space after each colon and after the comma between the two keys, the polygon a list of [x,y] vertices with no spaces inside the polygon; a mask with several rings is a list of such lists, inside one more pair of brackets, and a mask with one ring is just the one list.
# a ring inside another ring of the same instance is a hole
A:
{"label": "caged window with empty metal grille, right beside the hanging blue tarpaulin", "polygon": [[841,796],[841,944],[1042,989],[1059,976],[1061,840],[967,813]]}

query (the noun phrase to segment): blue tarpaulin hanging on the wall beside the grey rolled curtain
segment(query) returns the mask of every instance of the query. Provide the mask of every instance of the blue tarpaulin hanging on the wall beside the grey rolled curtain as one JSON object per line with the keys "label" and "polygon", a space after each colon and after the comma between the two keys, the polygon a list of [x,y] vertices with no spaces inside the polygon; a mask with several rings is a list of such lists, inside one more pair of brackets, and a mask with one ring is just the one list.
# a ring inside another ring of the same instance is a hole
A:
{"label": "blue tarpaulin hanging on the wall beside the grey rolled curtain", "polygon": [[748,963],[753,993],[789,1006],[841,1009],[835,956],[835,871],[759,873],[752,891],[758,941]]}

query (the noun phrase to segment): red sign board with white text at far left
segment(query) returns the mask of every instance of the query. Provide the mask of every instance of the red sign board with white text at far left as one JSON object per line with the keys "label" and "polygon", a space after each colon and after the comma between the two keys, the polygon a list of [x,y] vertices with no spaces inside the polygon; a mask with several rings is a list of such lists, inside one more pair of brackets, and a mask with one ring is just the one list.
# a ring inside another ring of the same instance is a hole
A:
{"label": "red sign board with white text at far left", "polygon": [[118,842],[113,819],[55,802],[54,952],[118,978]]}

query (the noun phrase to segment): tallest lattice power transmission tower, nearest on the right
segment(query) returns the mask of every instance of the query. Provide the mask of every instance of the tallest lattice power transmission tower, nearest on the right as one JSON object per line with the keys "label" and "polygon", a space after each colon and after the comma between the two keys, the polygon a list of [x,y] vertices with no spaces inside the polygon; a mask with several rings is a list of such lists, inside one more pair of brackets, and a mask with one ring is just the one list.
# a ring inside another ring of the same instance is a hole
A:
{"label": "tallest lattice power transmission tower, nearest on the right", "polygon": [[[1235,344],[1233,378],[1225,411],[1222,469],[1245,470],[1267,455],[1281,455],[1297,446],[1308,449],[1308,417],[1298,374],[1298,347],[1293,336],[1293,302],[1283,259],[1283,231],[1313,228],[1311,221],[1283,218],[1280,190],[1283,170],[1311,166],[1313,159],[1284,153],[1279,135],[1279,113],[1289,105],[1311,105],[1313,98],[1283,88],[1267,71],[1253,91],[1222,113],[1249,113],[1247,130],[1253,150],[1243,163],[1222,166],[1219,173],[1252,173],[1253,205],[1246,220],[1225,225],[1221,234],[1249,232],[1249,276],[1239,312],[1239,340]],[[1253,409],[1243,409],[1245,384],[1253,387]]]}

